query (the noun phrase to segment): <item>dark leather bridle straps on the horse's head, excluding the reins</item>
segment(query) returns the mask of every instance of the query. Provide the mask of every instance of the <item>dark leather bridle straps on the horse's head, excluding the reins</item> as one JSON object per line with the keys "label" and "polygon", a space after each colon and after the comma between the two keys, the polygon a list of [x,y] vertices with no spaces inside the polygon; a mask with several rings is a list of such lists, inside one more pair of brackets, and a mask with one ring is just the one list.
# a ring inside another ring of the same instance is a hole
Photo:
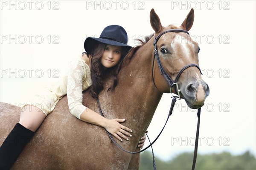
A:
{"label": "dark leather bridle straps on the horse's head, excluding the reins", "polygon": [[[184,66],[183,68],[180,69],[180,71],[178,72],[177,74],[177,77],[175,78],[175,80],[173,81],[172,78],[169,76],[169,74],[166,73],[165,69],[163,68],[163,65],[160,61],[160,58],[159,58],[159,54],[158,54],[158,51],[157,51],[157,41],[160,39],[160,37],[163,35],[163,34],[166,34],[167,32],[185,32],[187,34],[189,34],[188,31],[186,30],[183,30],[183,29],[169,29],[169,30],[166,30],[166,31],[163,31],[161,34],[159,34],[157,37],[155,36],[154,37],[154,59],[156,58],[157,59],[157,65],[158,65],[158,68],[160,70],[160,74],[162,75],[163,74],[163,77],[166,79],[166,81],[168,82],[168,84],[170,85],[170,92],[172,94],[172,88],[176,85],[176,89],[175,91],[177,92],[177,95],[179,96],[179,100],[180,100],[180,89],[178,87],[178,78],[180,77],[180,74],[186,69],[186,68],[189,68],[189,67],[197,67],[200,71],[200,73],[202,74],[201,72],[201,69],[199,68],[198,65],[196,64],[189,64],[189,65],[186,65]],[[153,76],[153,71],[154,71],[154,59],[153,59],[153,66],[152,66],[152,78],[153,78],[153,82],[154,82],[154,76]],[[156,84],[154,82],[154,85],[155,87]]]}

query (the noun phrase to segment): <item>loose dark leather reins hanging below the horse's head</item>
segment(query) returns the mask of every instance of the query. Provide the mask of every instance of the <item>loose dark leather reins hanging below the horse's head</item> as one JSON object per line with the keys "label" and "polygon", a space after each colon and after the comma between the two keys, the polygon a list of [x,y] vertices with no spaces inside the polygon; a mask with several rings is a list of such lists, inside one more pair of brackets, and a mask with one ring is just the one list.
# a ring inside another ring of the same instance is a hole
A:
{"label": "loose dark leather reins hanging below the horse's head", "polygon": [[[170,111],[169,111],[169,114],[168,114],[168,117],[167,117],[167,120],[166,120],[166,123],[168,122],[168,119],[169,117],[172,115],[172,111],[173,111],[173,108],[174,108],[174,105],[175,105],[175,102],[176,102],[176,98],[178,98],[178,96],[173,96],[172,98],[172,104],[171,104],[171,107],[170,107]],[[98,106],[99,106],[99,112],[100,114],[104,116],[104,114],[102,113],[102,110],[101,110],[101,107],[100,107],[100,104],[99,104],[99,99],[97,99],[97,103],[98,103]],[[198,113],[197,113],[197,116],[198,116],[198,125],[197,125],[197,130],[196,130],[196,137],[195,137],[195,150],[194,150],[194,158],[193,158],[193,164],[192,164],[192,170],[195,170],[195,162],[196,162],[196,157],[197,157],[197,150],[198,150],[198,137],[199,137],[199,124],[200,124],[200,114],[201,114],[201,108],[198,109]],[[137,151],[137,152],[131,152],[131,151],[128,151],[128,150],[125,150],[124,148],[122,148],[112,137],[111,133],[108,132],[108,130],[106,130],[106,132],[108,133],[108,136],[109,138],[111,139],[111,141],[116,144],[116,146],[118,146],[120,149],[122,149],[123,151],[127,152],[127,153],[141,153],[143,152],[144,150],[148,149],[148,147],[151,147],[152,148],[152,154],[153,154],[153,167],[154,167],[154,170],[156,170],[156,164],[155,164],[155,160],[154,160],[154,151],[153,151],[153,147],[152,145],[154,144],[154,142],[157,141],[157,139],[159,138],[159,136],[161,135],[161,133],[163,132],[163,129],[164,127],[166,126],[166,123],[164,124],[162,130],[160,131],[160,133],[158,134],[157,138],[151,143],[149,138],[148,138],[148,141],[149,141],[149,145],[147,147],[145,147],[145,149],[143,150],[140,150],[140,151]],[[146,134],[147,135],[147,134]],[[148,135],[147,135],[148,137]]]}

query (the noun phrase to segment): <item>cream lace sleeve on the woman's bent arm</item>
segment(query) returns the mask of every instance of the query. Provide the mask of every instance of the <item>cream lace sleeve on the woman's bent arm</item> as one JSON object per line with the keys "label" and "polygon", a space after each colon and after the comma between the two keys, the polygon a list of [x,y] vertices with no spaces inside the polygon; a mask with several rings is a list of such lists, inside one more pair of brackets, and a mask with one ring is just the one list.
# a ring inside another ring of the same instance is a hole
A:
{"label": "cream lace sleeve on the woman's bent arm", "polygon": [[67,100],[70,113],[80,119],[80,115],[86,109],[83,101],[84,63],[81,60],[73,60],[67,78]]}

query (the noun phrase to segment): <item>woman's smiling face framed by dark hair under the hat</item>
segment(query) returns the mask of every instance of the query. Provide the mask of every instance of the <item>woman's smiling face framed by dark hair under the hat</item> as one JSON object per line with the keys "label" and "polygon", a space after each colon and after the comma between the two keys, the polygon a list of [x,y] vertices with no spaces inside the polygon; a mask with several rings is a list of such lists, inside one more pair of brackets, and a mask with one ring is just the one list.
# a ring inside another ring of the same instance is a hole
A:
{"label": "woman's smiling face framed by dark hair under the hat", "polygon": [[115,66],[121,58],[121,46],[109,45],[105,47],[101,63],[104,68],[111,68]]}

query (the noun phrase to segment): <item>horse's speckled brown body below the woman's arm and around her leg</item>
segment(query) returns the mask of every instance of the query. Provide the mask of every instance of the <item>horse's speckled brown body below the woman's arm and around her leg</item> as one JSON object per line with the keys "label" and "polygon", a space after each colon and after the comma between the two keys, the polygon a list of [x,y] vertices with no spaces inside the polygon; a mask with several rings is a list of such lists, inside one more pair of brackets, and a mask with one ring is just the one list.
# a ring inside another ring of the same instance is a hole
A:
{"label": "horse's speckled brown body below the woman's arm and around her leg", "polygon": [[[19,121],[20,111],[3,109],[0,118],[0,136],[4,140]],[[130,159],[131,155],[113,145],[104,128],[84,123],[71,115],[67,96],[64,96],[12,169],[127,169]]]}

